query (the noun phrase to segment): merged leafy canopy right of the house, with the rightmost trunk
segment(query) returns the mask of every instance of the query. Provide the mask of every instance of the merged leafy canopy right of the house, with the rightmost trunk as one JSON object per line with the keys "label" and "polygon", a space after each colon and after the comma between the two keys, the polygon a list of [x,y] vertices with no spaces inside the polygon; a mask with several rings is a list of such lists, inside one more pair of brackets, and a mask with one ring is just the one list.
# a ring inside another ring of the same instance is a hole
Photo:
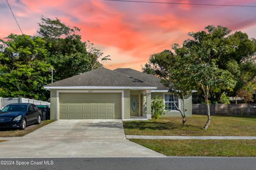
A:
{"label": "merged leafy canopy right of the house, with the rightmost trunk", "polygon": [[223,101],[221,96],[226,93],[237,95],[241,89],[255,89],[255,39],[241,32],[230,33],[222,26],[188,33],[191,38],[182,46],[174,44],[172,50],[151,55],[143,68],[161,77],[164,84],[173,84],[175,91],[186,92],[193,87],[202,92],[208,116],[205,129],[211,120],[209,99]]}

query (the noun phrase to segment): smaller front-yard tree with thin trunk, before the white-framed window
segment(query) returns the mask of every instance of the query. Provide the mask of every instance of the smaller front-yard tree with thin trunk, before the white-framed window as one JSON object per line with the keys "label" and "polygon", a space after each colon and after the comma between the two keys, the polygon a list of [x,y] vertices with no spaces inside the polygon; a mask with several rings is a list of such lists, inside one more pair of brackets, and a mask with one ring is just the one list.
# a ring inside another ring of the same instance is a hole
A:
{"label": "smaller front-yard tree with thin trunk, before the white-framed window", "polygon": [[[178,46],[174,45],[173,50]],[[186,97],[191,94],[193,86],[188,84],[189,78],[184,76],[186,67],[184,67],[184,60],[179,55],[174,54],[170,50],[153,54],[150,56],[149,63],[145,64],[143,72],[157,75],[161,78],[162,83],[169,87],[169,91],[179,97],[182,103],[182,109],[175,105],[182,117],[182,124],[185,125],[186,120]]]}

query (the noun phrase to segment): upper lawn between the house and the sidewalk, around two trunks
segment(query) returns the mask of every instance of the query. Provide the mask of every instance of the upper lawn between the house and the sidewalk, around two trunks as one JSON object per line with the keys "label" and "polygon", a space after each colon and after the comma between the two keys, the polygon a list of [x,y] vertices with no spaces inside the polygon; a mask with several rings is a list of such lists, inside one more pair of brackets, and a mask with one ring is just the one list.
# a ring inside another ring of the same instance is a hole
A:
{"label": "upper lawn between the house and the sidewalk, around two trunks", "polygon": [[182,125],[180,117],[162,118],[148,121],[128,121],[124,123],[126,135],[166,135],[166,136],[256,136],[256,117],[212,116],[207,131],[203,130],[206,116],[187,117]]}

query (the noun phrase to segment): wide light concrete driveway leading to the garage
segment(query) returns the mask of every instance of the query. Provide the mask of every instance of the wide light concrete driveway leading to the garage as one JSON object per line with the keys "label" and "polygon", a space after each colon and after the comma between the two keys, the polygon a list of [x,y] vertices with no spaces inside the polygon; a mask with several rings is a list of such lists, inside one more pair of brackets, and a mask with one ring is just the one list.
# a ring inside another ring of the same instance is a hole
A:
{"label": "wide light concrete driveway leading to the garage", "polygon": [[58,120],[0,142],[0,157],[163,157],[125,139],[122,120]]}

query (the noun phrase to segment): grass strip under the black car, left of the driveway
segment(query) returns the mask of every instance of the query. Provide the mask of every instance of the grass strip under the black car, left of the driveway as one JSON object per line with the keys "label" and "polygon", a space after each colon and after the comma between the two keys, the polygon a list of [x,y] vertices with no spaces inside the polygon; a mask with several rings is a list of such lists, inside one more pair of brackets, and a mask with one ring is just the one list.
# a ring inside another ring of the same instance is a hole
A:
{"label": "grass strip under the black car, left of the driveway", "polygon": [[0,137],[15,137],[15,136],[24,136],[29,134],[36,129],[43,127],[47,124],[54,122],[55,120],[44,120],[39,125],[30,125],[27,126],[25,130],[20,129],[0,129]]}

